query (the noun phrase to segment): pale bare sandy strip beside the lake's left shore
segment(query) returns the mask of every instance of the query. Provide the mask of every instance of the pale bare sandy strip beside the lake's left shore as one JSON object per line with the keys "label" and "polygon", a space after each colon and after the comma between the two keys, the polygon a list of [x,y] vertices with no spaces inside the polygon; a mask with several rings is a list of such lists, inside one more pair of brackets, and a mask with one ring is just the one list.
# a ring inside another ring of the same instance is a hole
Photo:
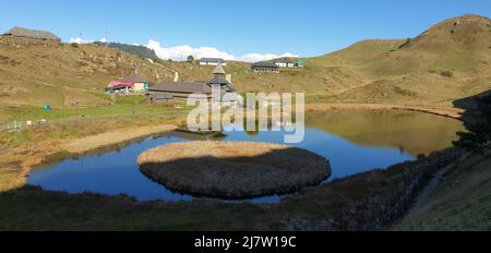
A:
{"label": "pale bare sandy strip beside the lake's left shore", "polygon": [[75,154],[82,154],[92,149],[115,145],[124,141],[142,137],[145,135],[157,134],[176,130],[177,126],[172,124],[160,124],[140,128],[128,128],[113,130],[97,135],[92,135],[79,140],[73,140],[62,145],[62,148]]}

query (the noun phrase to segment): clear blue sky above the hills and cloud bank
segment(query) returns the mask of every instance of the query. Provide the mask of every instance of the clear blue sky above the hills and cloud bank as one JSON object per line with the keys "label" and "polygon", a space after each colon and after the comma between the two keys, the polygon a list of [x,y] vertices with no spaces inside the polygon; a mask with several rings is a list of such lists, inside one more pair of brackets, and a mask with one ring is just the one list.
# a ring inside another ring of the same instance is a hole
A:
{"label": "clear blue sky above the hills and cloud bank", "polygon": [[[1,0],[0,31],[50,29],[71,38],[233,55],[319,56],[368,38],[406,38],[489,0]],[[156,45],[156,41],[159,44]],[[189,48],[168,48],[189,45]],[[200,47],[209,47],[200,51]],[[191,48],[191,49],[190,49]],[[158,49],[158,48],[157,48]],[[212,52],[211,50],[209,52]]]}

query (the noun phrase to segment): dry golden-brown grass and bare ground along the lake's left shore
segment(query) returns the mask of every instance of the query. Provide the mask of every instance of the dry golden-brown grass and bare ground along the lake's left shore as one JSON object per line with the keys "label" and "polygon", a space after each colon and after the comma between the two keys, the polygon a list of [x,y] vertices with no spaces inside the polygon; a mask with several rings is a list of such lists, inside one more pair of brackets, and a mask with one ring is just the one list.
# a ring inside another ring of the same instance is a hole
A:
{"label": "dry golden-brown grass and bare ground along the lake's left shore", "polygon": [[46,124],[21,133],[1,132],[0,147],[11,146],[20,136],[27,136],[28,140],[15,145],[16,148],[0,148],[0,192],[25,186],[26,177],[36,166],[172,131],[180,121],[179,117],[74,121]]}

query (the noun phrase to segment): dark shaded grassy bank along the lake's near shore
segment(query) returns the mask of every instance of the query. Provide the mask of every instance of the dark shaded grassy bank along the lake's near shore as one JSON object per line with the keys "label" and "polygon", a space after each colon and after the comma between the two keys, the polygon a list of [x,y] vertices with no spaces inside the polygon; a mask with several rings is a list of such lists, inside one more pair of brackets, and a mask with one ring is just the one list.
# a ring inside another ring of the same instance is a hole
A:
{"label": "dark shaded grassy bank along the lake's near shore", "polygon": [[19,186],[0,192],[0,205],[5,207],[0,208],[0,230],[362,229],[387,217],[386,212],[395,206],[390,204],[392,200],[399,202],[399,192],[407,192],[414,166],[430,166],[431,170],[439,164],[438,157],[429,157],[373,170],[308,188],[268,205],[206,198],[137,202],[124,195],[67,194]]}

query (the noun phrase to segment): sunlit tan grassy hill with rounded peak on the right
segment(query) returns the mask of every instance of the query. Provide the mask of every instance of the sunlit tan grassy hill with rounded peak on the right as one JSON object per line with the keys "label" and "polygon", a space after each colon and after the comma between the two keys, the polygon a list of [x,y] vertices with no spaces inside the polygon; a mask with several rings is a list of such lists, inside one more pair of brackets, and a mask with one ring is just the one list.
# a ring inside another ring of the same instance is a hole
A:
{"label": "sunlit tan grassy hill with rounded peak on the right", "polygon": [[338,100],[450,106],[491,87],[491,21],[464,15],[412,39],[366,40],[315,62],[363,76]]}

